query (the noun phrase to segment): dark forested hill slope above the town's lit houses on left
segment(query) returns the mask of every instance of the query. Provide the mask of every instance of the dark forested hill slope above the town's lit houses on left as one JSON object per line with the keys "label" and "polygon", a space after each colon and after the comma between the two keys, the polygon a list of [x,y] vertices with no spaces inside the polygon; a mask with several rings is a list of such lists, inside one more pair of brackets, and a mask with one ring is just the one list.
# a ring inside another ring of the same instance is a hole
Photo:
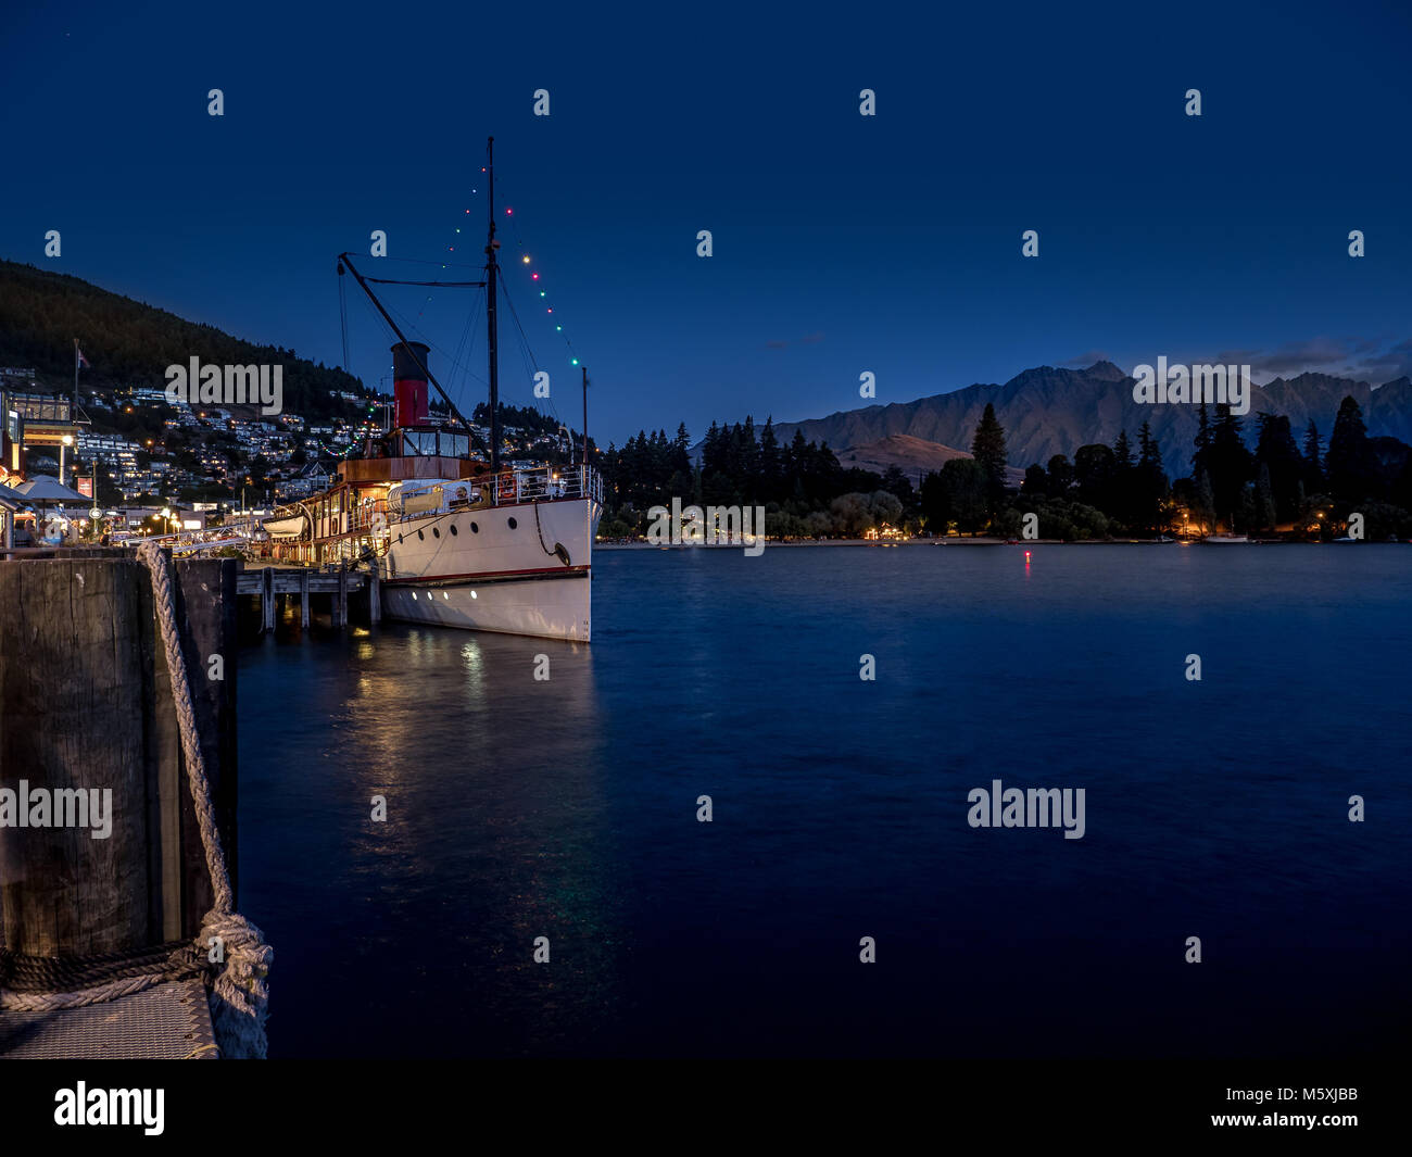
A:
{"label": "dark forested hill slope above the town's lit houses on left", "polygon": [[284,407],[311,421],[354,413],[356,404],[333,391],[366,393],[359,379],[291,349],[244,342],[78,277],[0,260],[0,366],[32,366],[41,383],[68,390],[75,338],[92,367],[80,379],[88,387],[162,387],[168,366],[195,356],[219,366],[282,364]]}

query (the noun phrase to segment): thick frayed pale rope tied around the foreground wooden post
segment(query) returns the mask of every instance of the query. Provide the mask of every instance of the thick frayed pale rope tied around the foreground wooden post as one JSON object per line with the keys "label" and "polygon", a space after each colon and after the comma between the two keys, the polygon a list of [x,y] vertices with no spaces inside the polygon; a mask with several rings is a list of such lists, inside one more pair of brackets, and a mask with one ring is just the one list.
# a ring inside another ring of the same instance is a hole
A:
{"label": "thick frayed pale rope tied around the foreground wooden post", "polygon": [[[79,961],[0,952],[0,983],[4,985],[0,987],[0,1009],[14,1011],[79,1009],[131,996],[168,980],[201,975],[209,966],[208,949],[213,949],[219,938],[225,968],[216,975],[212,986],[210,1020],[220,1055],[264,1057],[267,1051],[264,1026],[270,1004],[265,978],[270,973],[274,949],[264,942],[264,935],[254,924],[233,911],[234,896],[216,829],[216,809],[210,801],[210,783],[201,752],[196,712],[191,702],[191,685],[176,629],[176,600],[167,557],[155,542],[138,547],[137,557],[145,564],[152,579],[152,603],[157,607],[162,648],[171,674],[186,777],[215,900],[202,921],[201,935],[195,944],[167,944],[133,954],[107,954]],[[151,968],[158,963],[160,968]],[[72,985],[73,980],[95,973],[100,973],[104,982],[89,986],[79,983],[72,990],[64,992],[38,989],[40,985],[49,987],[64,980]]]}

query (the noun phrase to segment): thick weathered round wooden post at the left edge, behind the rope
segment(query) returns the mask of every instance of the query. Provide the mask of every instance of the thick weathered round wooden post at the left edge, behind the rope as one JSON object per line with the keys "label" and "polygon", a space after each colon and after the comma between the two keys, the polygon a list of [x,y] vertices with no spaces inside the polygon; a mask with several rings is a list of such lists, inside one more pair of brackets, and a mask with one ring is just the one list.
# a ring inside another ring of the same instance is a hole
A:
{"label": "thick weathered round wooden post at the left edge, behind the rope", "polygon": [[[4,944],[48,956],[160,942],[147,571],[88,558],[0,562],[0,788],[14,793],[0,822]],[[85,826],[48,826],[56,793],[86,814]],[[35,801],[48,801],[44,815]]]}

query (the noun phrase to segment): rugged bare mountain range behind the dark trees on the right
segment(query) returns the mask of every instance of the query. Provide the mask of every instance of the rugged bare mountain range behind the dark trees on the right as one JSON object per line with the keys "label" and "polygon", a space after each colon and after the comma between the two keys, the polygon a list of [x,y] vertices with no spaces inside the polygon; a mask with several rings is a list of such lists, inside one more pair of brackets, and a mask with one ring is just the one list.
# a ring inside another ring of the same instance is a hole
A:
{"label": "rugged bare mountain range behind the dark trees on the right", "polygon": [[[1056,453],[1072,459],[1079,446],[1091,442],[1111,446],[1123,429],[1135,453],[1138,427],[1145,420],[1151,422],[1168,475],[1190,473],[1200,407],[1144,405],[1132,400],[1132,386],[1134,379],[1111,362],[1096,362],[1083,370],[1036,366],[1004,384],[967,386],[915,401],[777,422],[775,429],[782,444],[794,438],[796,429],[808,441],[826,441],[844,466],[877,469],[870,462],[892,465],[895,461],[915,473],[939,469],[947,458],[967,453],[976,424],[991,403],[1005,428],[1005,446],[1014,468],[1024,469],[1032,462],[1045,465]],[[1252,386],[1250,414],[1245,415],[1247,442],[1254,445],[1255,414],[1267,411],[1289,418],[1300,446],[1305,427],[1313,418],[1327,444],[1339,404],[1350,396],[1363,407],[1370,435],[1412,442],[1412,380],[1399,377],[1371,386],[1320,373],[1288,380],[1276,377],[1265,386]],[[1213,407],[1209,413],[1214,417]],[[908,441],[897,442],[898,438]],[[932,449],[919,444],[932,444]],[[890,453],[897,451],[902,453]]]}

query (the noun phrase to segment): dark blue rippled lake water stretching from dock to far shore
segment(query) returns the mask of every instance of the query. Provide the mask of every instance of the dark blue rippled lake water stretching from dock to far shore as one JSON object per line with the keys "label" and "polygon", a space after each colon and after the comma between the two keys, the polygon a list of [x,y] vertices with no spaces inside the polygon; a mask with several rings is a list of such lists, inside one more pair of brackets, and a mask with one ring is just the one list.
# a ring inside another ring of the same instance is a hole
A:
{"label": "dark blue rippled lake water stretching from dock to far shore", "polygon": [[[271,1052],[1405,1037],[1412,550],[1031,550],[604,551],[592,647],[281,624],[239,688]],[[1084,838],[970,828],[994,778],[1086,788]]]}

